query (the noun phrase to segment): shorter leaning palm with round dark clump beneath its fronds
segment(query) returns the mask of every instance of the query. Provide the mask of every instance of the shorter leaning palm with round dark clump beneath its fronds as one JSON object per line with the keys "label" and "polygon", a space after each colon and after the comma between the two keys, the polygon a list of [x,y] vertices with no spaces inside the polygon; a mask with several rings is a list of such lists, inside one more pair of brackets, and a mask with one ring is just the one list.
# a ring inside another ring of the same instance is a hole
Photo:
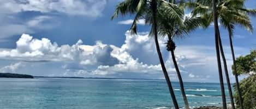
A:
{"label": "shorter leaning palm with round dark clump beneath its fronds", "polygon": [[[169,0],[170,3],[173,4],[178,4],[181,9],[184,9],[184,2],[181,1],[175,1],[175,0]],[[178,68],[177,61],[175,59],[175,53],[174,50],[176,48],[176,44],[174,42],[175,37],[180,37],[183,36],[183,34],[188,34],[190,31],[205,25],[205,20],[201,17],[196,17],[196,16],[186,16],[185,20],[183,20],[183,24],[177,24],[175,22],[170,22],[173,20],[170,20],[171,18],[166,18],[167,15],[163,15],[162,19],[159,20],[160,28],[158,29],[162,36],[168,36],[168,42],[166,43],[166,48],[169,52],[171,52],[171,57],[172,57],[172,62],[174,63],[174,67],[178,76],[178,80],[180,82],[180,87],[181,87],[181,93],[182,97],[184,100],[185,108],[189,109],[189,104],[188,100],[186,97],[186,93],[184,91],[184,85],[183,85],[183,80],[181,77],[180,69]]]}

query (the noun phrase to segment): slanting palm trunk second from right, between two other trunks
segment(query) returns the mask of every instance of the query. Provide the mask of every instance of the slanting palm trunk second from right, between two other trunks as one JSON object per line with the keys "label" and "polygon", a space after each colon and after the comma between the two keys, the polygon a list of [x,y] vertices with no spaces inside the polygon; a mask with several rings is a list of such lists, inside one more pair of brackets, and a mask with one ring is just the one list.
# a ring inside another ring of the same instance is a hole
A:
{"label": "slanting palm trunk second from right, between two other trunks", "polygon": [[231,108],[232,108],[232,109],[235,109],[234,97],[233,97],[232,88],[231,88],[231,85],[230,85],[230,79],[229,79],[227,61],[226,61],[225,54],[224,54],[224,50],[223,50],[223,47],[222,47],[221,34],[220,34],[220,32],[219,32],[219,29],[218,29],[218,41],[219,41],[219,48],[220,48],[220,50],[221,50],[223,65],[224,65],[224,69],[225,69],[225,75],[226,75],[226,79],[227,79],[227,84],[228,84],[228,90],[229,90],[229,97],[230,97],[230,102],[231,102]]}

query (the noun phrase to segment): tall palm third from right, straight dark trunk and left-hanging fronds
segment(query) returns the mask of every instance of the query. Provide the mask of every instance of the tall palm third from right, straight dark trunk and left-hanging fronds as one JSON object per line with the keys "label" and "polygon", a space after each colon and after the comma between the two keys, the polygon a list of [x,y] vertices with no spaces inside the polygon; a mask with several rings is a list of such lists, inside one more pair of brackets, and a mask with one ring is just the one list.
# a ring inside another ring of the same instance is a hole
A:
{"label": "tall palm third from right, straight dark trunk and left-hanging fronds", "polygon": [[222,65],[221,65],[221,57],[219,54],[219,34],[218,34],[218,1],[216,0],[197,0],[195,2],[187,3],[187,7],[192,10],[192,16],[201,16],[206,19],[206,23],[203,26],[204,28],[209,27],[210,23],[213,21],[215,27],[215,48],[216,48],[216,56],[218,63],[218,72],[219,72],[219,82],[221,86],[222,92],[222,103],[223,108],[227,108],[227,103],[225,99],[225,91],[224,91],[224,83],[223,83],[223,75],[222,75]]}

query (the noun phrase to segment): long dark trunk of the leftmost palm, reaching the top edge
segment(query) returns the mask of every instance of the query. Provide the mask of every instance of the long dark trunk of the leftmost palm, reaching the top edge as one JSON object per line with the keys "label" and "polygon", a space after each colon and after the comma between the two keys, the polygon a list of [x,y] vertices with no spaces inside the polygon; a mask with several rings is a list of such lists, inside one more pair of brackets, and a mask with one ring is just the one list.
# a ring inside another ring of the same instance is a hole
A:
{"label": "long dark trunk of the leftmost palm, reaching the top edge", "polygon": [[166,82],[168,84],[168,88],[169,88],[169,92],[171,94],[172,102],[174,104],[175,109],[178,109],[179,108],[178,107],[178,103],[177,103],[177,100],[176,100],[176,97],[175,97],[175,94],[174,94],[174,90],[172,89],[171,81],[170,81],[169,75],[167,73],[167,70],[165,68],[163,57],[162,57],[162,53],[160,51],[160,47],[159,47],[159,43],[158,43],[157,21],[156,21],[156,14],[157,14],[157,1],[156,0],[152,0],[151,8],[152,8],[152,12],[153,12],[154,41],[156,43],[156,48],[157,48],[157,53],[158,53],[159,61],[160,61],[160,64],[162,66],[162,70],[163,70],[163,73],[164,73],[165,80],[166,80]]}

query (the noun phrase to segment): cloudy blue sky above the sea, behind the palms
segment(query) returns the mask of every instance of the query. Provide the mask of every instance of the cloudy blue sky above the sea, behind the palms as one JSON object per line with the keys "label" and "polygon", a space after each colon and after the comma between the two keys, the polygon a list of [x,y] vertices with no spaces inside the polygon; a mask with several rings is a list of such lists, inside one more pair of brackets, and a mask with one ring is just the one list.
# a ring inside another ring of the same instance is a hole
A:
{"label": "cloudy blue sky above the sea, behind the palms", "polygon": [[[164,79],[150,27],[139,21],[138,35],[129,32],[133,15],[110,20],[122,0],[1,0],[0,72],[35,76]],[[254,0],[247,8],[256,8]],[[256,27],[256,18],[251,18]],[[218,82],[213,26],[175,39],[183,81]],[[254,33],[256,31],[254,30]],[[221,28],[230,80],[231,53],[227,30]],[[234,31],[235,55],[256,48],[255,34]],[[160,38],[171,81],[177,81],[170,53]]]}

